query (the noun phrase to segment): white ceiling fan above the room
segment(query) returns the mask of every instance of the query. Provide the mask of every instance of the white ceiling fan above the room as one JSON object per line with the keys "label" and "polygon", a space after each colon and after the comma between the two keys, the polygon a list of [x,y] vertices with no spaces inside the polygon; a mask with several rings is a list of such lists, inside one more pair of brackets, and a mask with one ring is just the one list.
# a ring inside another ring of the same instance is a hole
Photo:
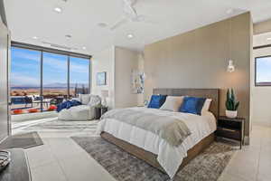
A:
{"label": "white ceiling fan above the room", "polygon": [[119,26],[123,24],[127,24],[129,22],[144,22],[146,24],[154,24],[154,22],[147,19],[145,15],[139,15],[137,14],[135,10],[135,4],[137,3],[137,0],[122,0],[123,1],[123,13],[124,16],[117,21],[116,24],[111,26],[110,30],[115,30]]}

